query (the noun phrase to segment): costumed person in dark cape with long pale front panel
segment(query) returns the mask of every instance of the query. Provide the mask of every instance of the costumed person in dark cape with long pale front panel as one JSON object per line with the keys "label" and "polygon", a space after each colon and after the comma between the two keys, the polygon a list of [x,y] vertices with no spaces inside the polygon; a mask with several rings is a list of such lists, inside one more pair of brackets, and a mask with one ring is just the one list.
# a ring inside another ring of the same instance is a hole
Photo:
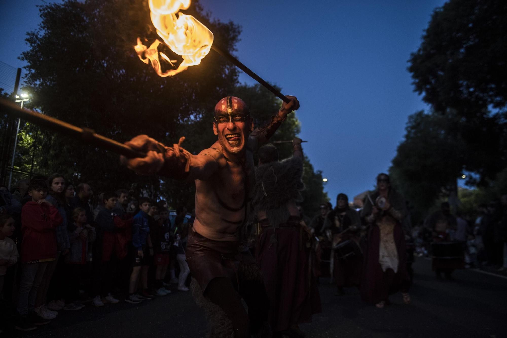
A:
{"label": "costumed person in dark cape with long pale front panel", "polygon": [[[372,201],[374,205],[372,205]],[[361,298],[383,308],[389,294],[401,291],[410,303],[405,234],[402,221],[407,214],[402,195],[391,188],[389,176],[377,176],[377,190],[365,201],[361,217],[370,229],[364,252]]]}

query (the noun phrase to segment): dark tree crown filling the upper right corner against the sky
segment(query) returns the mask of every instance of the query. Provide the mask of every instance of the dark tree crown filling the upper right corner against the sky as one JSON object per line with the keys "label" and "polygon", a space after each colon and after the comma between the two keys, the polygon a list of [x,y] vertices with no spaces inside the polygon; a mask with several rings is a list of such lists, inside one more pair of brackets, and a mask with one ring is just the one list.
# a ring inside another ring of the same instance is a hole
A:
{"label": "dark tree crown filling the upper right corner against the sky", "polygon": [[482,116],[507,105],[507,3],[450,0],[434,10],[409,71],[437,111]]}

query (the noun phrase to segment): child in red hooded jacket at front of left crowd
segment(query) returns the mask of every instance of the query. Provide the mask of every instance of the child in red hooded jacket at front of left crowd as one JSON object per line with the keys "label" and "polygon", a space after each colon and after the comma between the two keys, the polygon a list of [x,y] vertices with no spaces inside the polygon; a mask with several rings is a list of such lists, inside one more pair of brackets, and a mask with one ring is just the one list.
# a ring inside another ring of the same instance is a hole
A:
{"label": "child in red hooded jacket at front of left crowd", "polygon": [[[63,219],[50,202],[45,200],[48,186],[44,180],[30,182],[31,200],[21,209],[21,282],[19,286],[16,328],[32,330],[33,324],[49,323],[34,313],[37,290],[44,278],[48,262],[56,259],[56,227]],[[56,317],[56,316],[55,316]]]}

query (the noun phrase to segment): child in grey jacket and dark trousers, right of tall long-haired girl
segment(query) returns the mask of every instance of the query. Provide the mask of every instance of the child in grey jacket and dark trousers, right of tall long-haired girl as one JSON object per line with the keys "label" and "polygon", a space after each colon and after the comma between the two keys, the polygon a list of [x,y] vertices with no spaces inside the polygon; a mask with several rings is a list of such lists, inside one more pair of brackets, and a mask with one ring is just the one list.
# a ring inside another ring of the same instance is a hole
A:
{"label": "child in grey jacket and dark trousers, right of tall long-haired girl", "polygon": [[84,305],[79,299],[79,285],[81,277],[87,271],[87,264],[91,261],[91,244],[95,241],[95,228],[88,224],[86,210],[76,208],[72,212],[74,222],[68,226],[70,252],[65,256],[67,263],[66,304],[63,310],[80,310]]}

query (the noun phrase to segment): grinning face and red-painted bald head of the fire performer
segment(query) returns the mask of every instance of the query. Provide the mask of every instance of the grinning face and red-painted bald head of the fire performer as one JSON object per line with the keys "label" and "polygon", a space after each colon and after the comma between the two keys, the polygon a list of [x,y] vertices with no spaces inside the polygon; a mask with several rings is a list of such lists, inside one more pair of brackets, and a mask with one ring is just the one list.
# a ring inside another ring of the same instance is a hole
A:
{"label": "grinning face and red-painted bald head of the fire performer", "polygon": [[243,151],[253,130],[250,112],[242,99],[227,96],[215,106],[213,132],[222,148],[231,154]]}

